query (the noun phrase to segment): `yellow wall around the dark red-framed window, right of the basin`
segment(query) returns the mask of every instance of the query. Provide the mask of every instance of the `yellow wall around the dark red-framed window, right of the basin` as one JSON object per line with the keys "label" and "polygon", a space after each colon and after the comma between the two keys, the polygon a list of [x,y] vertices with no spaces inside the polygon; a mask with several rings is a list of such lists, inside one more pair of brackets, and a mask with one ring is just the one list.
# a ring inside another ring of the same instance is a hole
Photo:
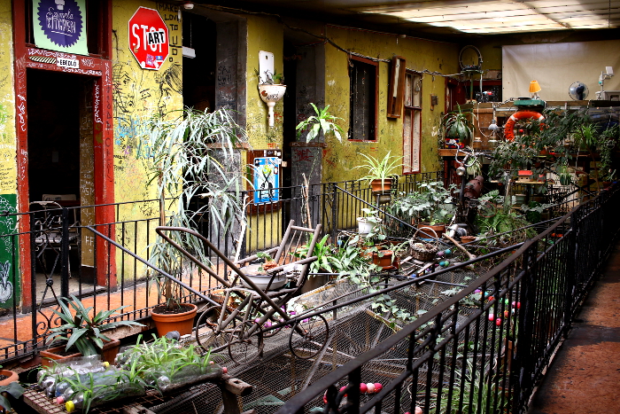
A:
{"label": "yellow wall around the dark red-framed window, right of the basin", "polygon": [[[363,30],[341,27],[325,27],[325,35],[341,48],[376,59],[391,59],[399,55],[407,59],[407,68],[416,71],[429,70],[441,74],[458,72],[459,48],[453,43],[438,43],[416,38],[399,38]],[[326,77],[325,104],[329,112],[344,121],[340,125],[349,127],[349,66],[347,55],[329,44],[325,46]],[[359,153],[383,158],[391,151],[392,155],[402,155],[402,119],[391,120],[386,116],[387,89],[390,64],[379,63],[379,104],[378,135],[376,142],[345,141],[340,144],[336,138],[329,137],[323,160],[323,181],[342,181],[356,179],[362,175],[360,169],[353,169],[363,160]],[[445,78],[424,74],[422,78],[422,172],[436,171],[438,160],[438,124],[444,109],[446,95]],[[430,94],[438,96],[439,105],[430,110]]]}

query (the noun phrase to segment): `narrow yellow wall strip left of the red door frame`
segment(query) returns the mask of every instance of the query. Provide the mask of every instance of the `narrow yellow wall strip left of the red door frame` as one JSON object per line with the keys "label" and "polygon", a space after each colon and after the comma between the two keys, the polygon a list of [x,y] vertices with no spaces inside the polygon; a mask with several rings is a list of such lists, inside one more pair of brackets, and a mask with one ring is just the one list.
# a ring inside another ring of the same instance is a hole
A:
{"label": "narrow yellow wall strip left of the red door frame", "polygon": [[11,0],[0,0],[0,194],[17,193],[15,157],[12,8]]}

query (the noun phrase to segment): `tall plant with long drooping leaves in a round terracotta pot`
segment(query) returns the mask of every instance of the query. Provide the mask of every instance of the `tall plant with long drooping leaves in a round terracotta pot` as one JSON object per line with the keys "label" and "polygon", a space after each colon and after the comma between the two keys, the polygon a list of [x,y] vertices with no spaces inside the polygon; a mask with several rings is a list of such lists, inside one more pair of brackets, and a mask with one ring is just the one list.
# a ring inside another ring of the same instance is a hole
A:
{"label": "tall plant with long drooping leaves in a round terracotta pot", "polygon": [[[157,184],[159,224],[196,229],[196,219],[208,216],[211,223],[219,225],[222,237],[233,223],[243,227],[241,187],[245,177],[238,166],[237,152],[247,139],[233,114],[228,109],[213,113],[186,109],[177,118],[152,118],[146,130],[138,154],[152,160],[148,164],[149,184]],[[190,203],[197,198],[208,202],[194,210]],[[196,254],[201,262],[209,262],[198,238],[184,232],[173,232],[170,238]],[[171,276],[181,279],[183,272],[189,275],[194,269],[192,263],[185,266],[179,251],[159,236],[149,249],[149,260]],[[182,287],[159,273],[151,275],[151,285],[156,285],[164,300],[151,309],[159,335],[170,330],[190,333],[197,307],[182,303]]]}

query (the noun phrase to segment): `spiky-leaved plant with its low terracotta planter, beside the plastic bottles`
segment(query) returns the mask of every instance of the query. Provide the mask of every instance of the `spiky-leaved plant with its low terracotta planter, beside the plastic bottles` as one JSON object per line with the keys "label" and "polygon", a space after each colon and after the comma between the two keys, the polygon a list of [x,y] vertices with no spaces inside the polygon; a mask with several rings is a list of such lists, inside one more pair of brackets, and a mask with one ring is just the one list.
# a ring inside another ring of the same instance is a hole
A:
{"label": "spiky-leaved plant with its low terracotta planter, beside the plastic bottles", "polygon": [[[114,356],[119,350],[120,340],[111,340],[105,335],[104,331],[118,326],[144,326],[135,321],[110,321],[112,315],[121,309],[121,306],[112,310],[100,310],[97,315],[92,315],[93,308],[86,308],[83,303],[73,294],[71,300],[60,298],[58,300],[60,310],[54,309],[54,314],[64,322],[60,326],[50,329],[50,343],[54,340],[66,340],[65,346],[50,348],[41,351],[43,365],[49,365],[49,359],[63,359],[77,355],[89,356],[100,354],[105,361],[112,363]],[[74,348],[77,352],[62,355],[62,351],[71,352]],[[48,359],[45,359],[48,358]]]}

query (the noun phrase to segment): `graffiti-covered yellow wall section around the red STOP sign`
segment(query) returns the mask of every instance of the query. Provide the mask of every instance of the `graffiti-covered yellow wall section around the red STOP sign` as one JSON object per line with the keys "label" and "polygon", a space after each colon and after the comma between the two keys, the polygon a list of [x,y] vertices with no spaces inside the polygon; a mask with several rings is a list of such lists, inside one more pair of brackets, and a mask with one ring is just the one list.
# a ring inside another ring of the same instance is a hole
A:
{"label": "graffiti-covered yellow wall section around the red STOP sign", "polygon": [[[157,10],[169,30],[170,53],[157,71],[142,69],[129,50],[128,20],[139,6]],[[139,158],[136,147],[144,132],[145,121],[152,115],[182,109],[182,27],[177,12],[178,6],[170,4],[139,0],[112,2],[114,197],[117,202],[157,199],[157,185],[148,184],[147,169],[151,166],[151,160]],[[174,113],[174,116],[178,114]],[[121,206],[120,220],[158,217],[158,208],[157,202]],[[153,229],[151,223],[151,242],[155,237]],[[119,236],[120,230],[117,226]],[[146,255],[146,223],[138,224],[136,235],[136,254]],[[134,246],[131,237],[126,234],[122,240],[126,246]],[[117,261],[120,261],[120,256]]]}

